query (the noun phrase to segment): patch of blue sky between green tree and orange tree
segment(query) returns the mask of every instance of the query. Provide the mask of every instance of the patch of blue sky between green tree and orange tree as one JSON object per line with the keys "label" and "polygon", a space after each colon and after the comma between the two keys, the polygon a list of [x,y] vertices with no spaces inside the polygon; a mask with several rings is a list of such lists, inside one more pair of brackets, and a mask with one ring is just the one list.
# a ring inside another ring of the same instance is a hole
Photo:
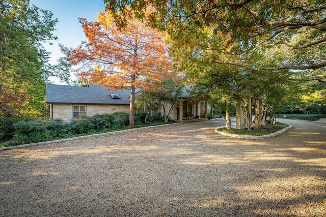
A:
{"label": "patch of blue sky between green tree and orange tree", "polygon": [[[56,64],[57,59],[64,54],[59,48],[59,43],[65,47],[77,47],[86,40],[82,25],[78,17],[85,17],[89,21],[96,21],[98,11],[104,11],[103,0],[30,0],[30,4],[40,9],[49,10],[53,13],[53,19],[58,18],[55,32],[59,40],[53,41],[52,46],[44,46],[51,52],[51,64]],[[74,79],[72,77],[72,79]],[[58,80],[53,80],[59,83]]]}

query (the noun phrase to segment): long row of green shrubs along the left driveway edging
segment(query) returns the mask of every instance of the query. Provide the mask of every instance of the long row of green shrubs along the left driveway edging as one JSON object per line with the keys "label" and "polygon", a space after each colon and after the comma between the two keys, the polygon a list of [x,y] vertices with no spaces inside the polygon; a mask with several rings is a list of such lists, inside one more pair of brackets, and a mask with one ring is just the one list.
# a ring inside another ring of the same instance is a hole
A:
{"label": "long row of green shrubs along the left driveway edging", "polygon": [[[146,115],[146,114],[145,114]],[[135,115],[135,125],[145,122],[144,113]],[[161,117],[150,117],[147,122],[161,121]],[[98,114],[92,117],[80,116],[69,123],[61,119],[38,121],[32,117],[0,119],[2,147],[26,143],[49,141],[73,135],[105,132],[125,128],[129,125],[129,113]]]}

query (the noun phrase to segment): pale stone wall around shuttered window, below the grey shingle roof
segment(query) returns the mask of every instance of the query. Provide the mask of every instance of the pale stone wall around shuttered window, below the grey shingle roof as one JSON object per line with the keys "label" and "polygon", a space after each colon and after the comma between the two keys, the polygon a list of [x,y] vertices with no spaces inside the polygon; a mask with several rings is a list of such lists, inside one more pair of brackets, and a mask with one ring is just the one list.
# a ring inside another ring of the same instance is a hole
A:
{"label": "pale stone wall around shuttered window, below the grey shingle roof", "polygon": [[[69,122],[72,119],[72,110],[74,105],[83,104],[53,104],[53,119],[63,119]],[[86,105],[87,116],[95,114],[111,114],[114,112],[129,112],[129,105]]]}

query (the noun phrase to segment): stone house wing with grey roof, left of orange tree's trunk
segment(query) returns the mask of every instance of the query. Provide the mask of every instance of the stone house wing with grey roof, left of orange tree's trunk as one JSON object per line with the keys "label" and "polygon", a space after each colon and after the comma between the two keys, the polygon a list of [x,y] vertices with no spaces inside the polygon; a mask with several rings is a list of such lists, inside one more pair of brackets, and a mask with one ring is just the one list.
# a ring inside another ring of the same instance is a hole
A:
{"label": "stone house wing with grey roof, left of orange tree's trunk", "polygon": [[129,112],[130,90],[108,90],[98,85],[47,84],[45,102],[50,104],[50,119],[60,118],[68,122],[79,115]]}

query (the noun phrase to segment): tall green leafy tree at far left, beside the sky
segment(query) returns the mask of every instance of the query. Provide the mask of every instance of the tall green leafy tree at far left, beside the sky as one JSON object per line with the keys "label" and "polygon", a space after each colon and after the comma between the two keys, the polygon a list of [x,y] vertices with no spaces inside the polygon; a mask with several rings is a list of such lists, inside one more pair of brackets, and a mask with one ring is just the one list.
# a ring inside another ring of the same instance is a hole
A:
{"label": "tall green leafy tree at far left, beside the sky", "polygon": [[68,81],[70,64],[64,58],[57,65],[47,64],[49,52],[43,47],[43,43],[57,40],[51,33],[56,23],[50,11],[30,6],[28,0],[0,3],[0,91],[29,95],[36,93],[31,88],[35,83],[45,88],[49,76]]}

